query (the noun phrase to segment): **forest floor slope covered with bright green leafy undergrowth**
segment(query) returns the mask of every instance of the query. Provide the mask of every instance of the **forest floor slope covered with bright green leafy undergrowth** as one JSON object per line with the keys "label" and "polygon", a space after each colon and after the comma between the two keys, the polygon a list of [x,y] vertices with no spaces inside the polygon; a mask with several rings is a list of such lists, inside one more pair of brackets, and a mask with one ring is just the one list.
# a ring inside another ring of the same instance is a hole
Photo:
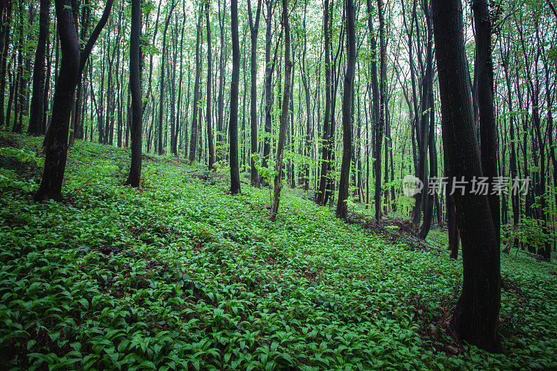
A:
{"label": "forest floor slope covered with bright green leafy undergrowth", "polygon": [[226,169],[171,157],[131,189],[129,152],[81,141],[65,202],[39,204],[40,139],[0,147],[22,149],[0,150],[1,369],[557,369],[555,262],[501,256],[504,352],[487,354],[447,331],[462,260],[443,242],[286,189],[272,223],[268,189],[230,196]]}

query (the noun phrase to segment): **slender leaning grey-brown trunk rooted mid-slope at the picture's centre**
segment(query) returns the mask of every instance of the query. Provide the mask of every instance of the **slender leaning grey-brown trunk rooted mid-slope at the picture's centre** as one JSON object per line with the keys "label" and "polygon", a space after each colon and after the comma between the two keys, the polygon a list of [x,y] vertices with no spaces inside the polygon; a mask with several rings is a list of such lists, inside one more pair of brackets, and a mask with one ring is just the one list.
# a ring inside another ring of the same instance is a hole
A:
{"label": "slender leaning grey-brown trunk rooted mid-slope at the picture's centre", "polygon": [[281,127],[278,129],[278,143],[276,144],[276,164],[274,171],[274,194],[271,204],[271,221],[276,220],[278,203],[281,200],[281,189],[283,187],[283,152],[286,136],[286,125],[288,125],[288,101],[290,100],[290,72],[292,61],[290,61],[290,24],[288,24],[288,0],[283,0],[283,27],[284,27],[284,93],[281,106]]}

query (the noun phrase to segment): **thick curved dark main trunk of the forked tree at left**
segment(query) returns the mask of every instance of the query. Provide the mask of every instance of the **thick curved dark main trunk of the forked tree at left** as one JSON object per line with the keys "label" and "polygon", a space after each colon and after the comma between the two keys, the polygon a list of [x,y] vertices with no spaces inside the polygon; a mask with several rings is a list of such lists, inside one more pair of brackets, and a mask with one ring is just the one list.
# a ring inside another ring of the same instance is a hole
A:
{"label": "thick curved dark main trunk of the forked tree at left", "polygon": [[74,104],[77,74],[79,74],[79,43],[71,1],[56,0],[55,6],[62,61],[54,91],[52,123],[45,146],[45,169],[40,187],[33,196],[38,201],[62,199],[62,181],[68,157],[70,114]]}

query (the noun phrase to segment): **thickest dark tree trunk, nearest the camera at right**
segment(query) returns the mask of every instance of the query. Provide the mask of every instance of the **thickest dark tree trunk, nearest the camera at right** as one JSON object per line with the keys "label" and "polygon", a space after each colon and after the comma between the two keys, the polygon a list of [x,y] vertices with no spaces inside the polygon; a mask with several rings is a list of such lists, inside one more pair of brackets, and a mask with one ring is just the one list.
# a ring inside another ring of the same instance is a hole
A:
{"label": "thickest dark tree trunk, nearest the camera at right", "polygon": [[[471,181],[483,176],[473,129],[468,68],[464,53],[464,26],[460,0],[433,0],[434,38],[439,90],[441,129],[450,176]],[[464,283],[450,320],[455,335],[490,352],[500,349],[497,336],[501,287],[499,246],[487,196],[454,194],[462,238]]]}

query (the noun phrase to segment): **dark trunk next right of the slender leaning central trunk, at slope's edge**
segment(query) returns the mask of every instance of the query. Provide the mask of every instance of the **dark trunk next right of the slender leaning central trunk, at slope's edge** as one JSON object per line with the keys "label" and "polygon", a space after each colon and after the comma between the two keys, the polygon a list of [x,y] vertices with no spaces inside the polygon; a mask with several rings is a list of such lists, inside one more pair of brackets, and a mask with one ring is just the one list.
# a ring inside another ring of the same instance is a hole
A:
{"label": "dark trunk next right of the slender leaning central trunk, at slope's edge", "polygon": [[352,158],[352,85],[354,84],[354,69],[356,68],[354,0],[347,0],[346,2],[346,20],[348,61],[343,88],[343,162],[340,166],[340,183],[336,204],[336,217],[340,219],[346,219],[348,214],[346,200],[348,198],[350,159]]}

